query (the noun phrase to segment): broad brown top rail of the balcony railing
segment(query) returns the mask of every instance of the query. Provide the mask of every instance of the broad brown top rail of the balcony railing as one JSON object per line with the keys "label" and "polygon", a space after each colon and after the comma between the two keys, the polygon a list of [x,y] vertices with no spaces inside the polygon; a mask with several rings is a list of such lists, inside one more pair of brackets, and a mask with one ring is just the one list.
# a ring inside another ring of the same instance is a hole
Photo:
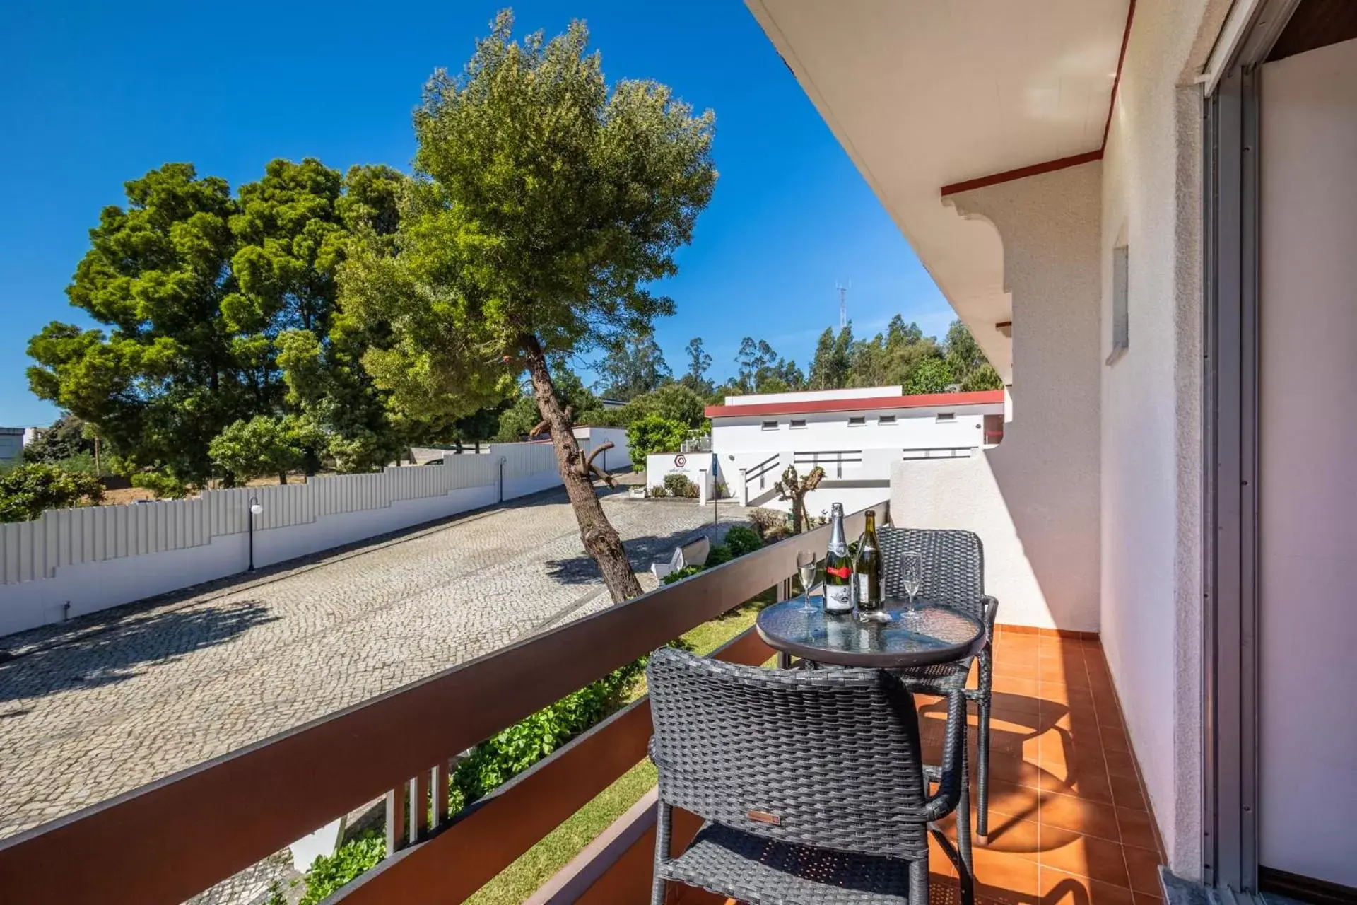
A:
{"label": "broad brown top rail of the balcony railing", "polygon": [[[885,520],[889,502],[873,506]],[[848,518],[862,529],[862,512]],[[7,901],[178,905],[783,582],[828,528],[0,840]],[[524,677],[532,677],[524,681]]]}

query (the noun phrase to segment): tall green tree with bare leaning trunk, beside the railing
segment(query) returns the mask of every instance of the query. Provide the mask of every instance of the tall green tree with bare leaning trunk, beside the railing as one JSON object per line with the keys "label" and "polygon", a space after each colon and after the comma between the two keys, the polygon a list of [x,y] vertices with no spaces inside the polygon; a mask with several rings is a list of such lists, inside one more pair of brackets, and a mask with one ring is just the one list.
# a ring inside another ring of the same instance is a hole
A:
{"label": "tall green tree with bare leaning trunk, beside the railing", "polygon": [[514,41],[501,12],[465,71],[434,73],[415,111],[415,179],[395,254],[343,270],[346,309],[385,323],[364,365],[396,411],[460,417],[527,370],[585,550],[615,601],[641,593],[594,494],[551,362],[650,331],[711,198],[712,115],[669,88],[617,81],[579,22]]}

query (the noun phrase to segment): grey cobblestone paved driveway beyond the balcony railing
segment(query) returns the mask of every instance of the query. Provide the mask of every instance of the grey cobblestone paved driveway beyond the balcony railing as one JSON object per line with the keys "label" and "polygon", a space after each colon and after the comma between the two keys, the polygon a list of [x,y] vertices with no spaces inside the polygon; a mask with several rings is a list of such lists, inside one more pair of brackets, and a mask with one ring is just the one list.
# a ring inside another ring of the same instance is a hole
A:
{"label": "grey cobblestone paved driveway beyond the balcony railing", "polygon": [[[638,571],[710,529],[710,507],[622,495],[605,506]],[[741,517],[722,506],[723,524]],[[607,605],[565,494],[551,491],[3,638],[18,655],[0,662],[0,837]]]}

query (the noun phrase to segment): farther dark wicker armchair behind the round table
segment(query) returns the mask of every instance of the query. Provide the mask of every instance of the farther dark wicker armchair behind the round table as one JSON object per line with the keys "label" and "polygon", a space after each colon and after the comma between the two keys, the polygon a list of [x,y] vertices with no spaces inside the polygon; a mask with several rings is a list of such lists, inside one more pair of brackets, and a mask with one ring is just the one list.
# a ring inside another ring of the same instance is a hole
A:
{"label": "farther dark wicker armchair behind the round table", "polygon": [[939,663],[904,670],[905,685],[915,692],[932,692],[936,688],[965,688],[966,697],[976,703],[980,733],[977,739],[976,782],[978,817],[976,832],[989,834],[989,701],[993,687],[993,636],[995,613],[999,601],[985,594],[985,550],[980,537],[969,531],[943,531],[924,528],[877,529],[877,541],[882,555],[882,592],[887,597],[904,597],[900,577],[900,555],[917,552],[924,564],[923,586],[919,596],[927,600],[946,601],[969,612],[985,627],[985,646],[980,650],[980,676],[976,688],[965,688],[970,674],[972,658],[954,663]]}

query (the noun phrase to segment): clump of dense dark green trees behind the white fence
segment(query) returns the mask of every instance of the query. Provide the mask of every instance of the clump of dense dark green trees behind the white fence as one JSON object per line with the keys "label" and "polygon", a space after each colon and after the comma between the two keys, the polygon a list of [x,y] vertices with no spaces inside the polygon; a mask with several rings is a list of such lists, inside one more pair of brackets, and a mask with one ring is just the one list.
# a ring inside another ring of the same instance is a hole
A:
{"label": "clump of dense dark green trees behind the white fence", "polygon": [[[358,366],[369,336],[335,308],[356,232],[395,229],[403,176],[274,160],[240,187],[166,164],[126,183],[66,294],[102,330],[47,324],[28,343],[33,391],[87,421],[129,468],[201,483],[228,425],[305,415],[341,468],[392,457],[391,425]],[[375,239],[376,240],[376,239]],[[232,479],[232,472],[225,472]]]}

